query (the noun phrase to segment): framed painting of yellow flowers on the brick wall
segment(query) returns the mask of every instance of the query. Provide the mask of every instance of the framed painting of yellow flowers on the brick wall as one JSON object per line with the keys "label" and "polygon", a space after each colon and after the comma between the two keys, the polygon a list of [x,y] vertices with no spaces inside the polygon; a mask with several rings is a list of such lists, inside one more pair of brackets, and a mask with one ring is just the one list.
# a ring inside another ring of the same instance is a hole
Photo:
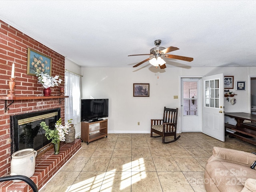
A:
{"label": "framed painting of yellow flowers on the brick wall", "polygon": [[36,50],[28,48],[27,74],[36,76],[35,72],[44,72],[52,75],[52,58]]}

